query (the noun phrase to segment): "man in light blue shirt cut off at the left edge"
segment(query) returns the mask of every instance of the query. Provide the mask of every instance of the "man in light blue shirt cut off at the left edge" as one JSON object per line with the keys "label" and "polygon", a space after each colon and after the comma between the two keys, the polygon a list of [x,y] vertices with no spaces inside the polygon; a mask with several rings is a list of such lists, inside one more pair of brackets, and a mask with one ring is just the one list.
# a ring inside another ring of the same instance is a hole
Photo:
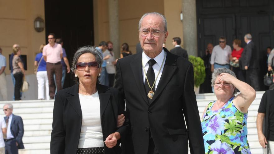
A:
{"label": "man in light blue shirt cut off at the left edge", "polygon": [[2,55],[2,49],[0,48],[0,92],[2,100],[7,100],[7,81],[6,81],[6,57]]}

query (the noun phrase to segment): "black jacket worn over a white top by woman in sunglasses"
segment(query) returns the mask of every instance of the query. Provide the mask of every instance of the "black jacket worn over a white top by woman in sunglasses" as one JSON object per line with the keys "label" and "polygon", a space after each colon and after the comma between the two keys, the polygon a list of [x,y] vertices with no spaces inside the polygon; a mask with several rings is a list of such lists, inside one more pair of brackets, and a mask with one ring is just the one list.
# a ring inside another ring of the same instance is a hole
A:
{"label": "black jacket worn over a white top by woman in sunglasses", "polygon": [[[124,112],[118,103],[121,100],[117,89],[97,84],[97,90],[100,99],[104,141],[108,135],[114,132],[119,132],[122,138],[127,133],[129,126],[126,120],[122,127],[116,128],[117,115]],[[76,84],[56,93],[50,141],[51,154],[75,154],[77,151],[82,125],[82,110],[78,91],[79,85]],[[119,143],[113,148],[108,148],[104,144],[104,149],[106,154],[121,153]]]}

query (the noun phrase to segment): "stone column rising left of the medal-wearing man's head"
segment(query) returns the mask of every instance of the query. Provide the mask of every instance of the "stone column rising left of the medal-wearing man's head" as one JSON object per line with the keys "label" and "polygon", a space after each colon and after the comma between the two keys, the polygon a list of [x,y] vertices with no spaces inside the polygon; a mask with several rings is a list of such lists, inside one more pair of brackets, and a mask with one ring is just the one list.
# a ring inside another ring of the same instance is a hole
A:
{"label": "stone column rising left of the medal-wearing man's head", "polygon": [[109,38],[113,43],[115,58],[120,58],[119,2],[108,0]]}

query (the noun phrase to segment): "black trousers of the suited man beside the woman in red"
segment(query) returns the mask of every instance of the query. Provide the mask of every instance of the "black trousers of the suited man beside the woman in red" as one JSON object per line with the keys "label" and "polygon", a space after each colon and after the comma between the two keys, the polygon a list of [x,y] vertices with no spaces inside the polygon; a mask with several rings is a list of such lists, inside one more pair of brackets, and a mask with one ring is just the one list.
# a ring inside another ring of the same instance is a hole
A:
{"label": "black trousers of the suited man beside the woman in red", "polygon": [[256,68],[248,68],[246,70],[246,83],[248,83],[250,86],[252,86],[255,91],[260,90],[260,85],[259,85],[259,76],[258,76],[258,69]]}

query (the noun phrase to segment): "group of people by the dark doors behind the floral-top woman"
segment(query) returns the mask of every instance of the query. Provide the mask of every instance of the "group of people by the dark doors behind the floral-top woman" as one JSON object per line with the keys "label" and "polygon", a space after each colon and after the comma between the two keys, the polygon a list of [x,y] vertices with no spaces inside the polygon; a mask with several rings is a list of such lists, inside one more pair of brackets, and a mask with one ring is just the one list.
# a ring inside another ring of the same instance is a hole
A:
{"label": "group of people by the dark doors behind the floral-top woman", "polygon": [[[202,57],[205,64],[205,82],[201,84],[200,93],[211,93],[214,90],[211,88],[210,80],[211,73],[215,68],[228,68],[231,69],[236,77],[248,83],[256,91],[260,90],[260,64],[257,56],[257,49],[252,41],[252,35],[246,34],[244,41],[247,44],[244,48],[242,42],[239,39],[233,40],[233,50],[226,44],[226,38],[221,36],[219,38],[219,44],[213,47],[213,44],[209,43],[205,50],[205,55]],[[271,47],[267,47],[267,54],[263,58],[265,71],[272,71],[274,66],[274,49],[271,51]],[[273,74],[273,73],[272,73]],[[267,87],[269,88],[269,87]]]}

